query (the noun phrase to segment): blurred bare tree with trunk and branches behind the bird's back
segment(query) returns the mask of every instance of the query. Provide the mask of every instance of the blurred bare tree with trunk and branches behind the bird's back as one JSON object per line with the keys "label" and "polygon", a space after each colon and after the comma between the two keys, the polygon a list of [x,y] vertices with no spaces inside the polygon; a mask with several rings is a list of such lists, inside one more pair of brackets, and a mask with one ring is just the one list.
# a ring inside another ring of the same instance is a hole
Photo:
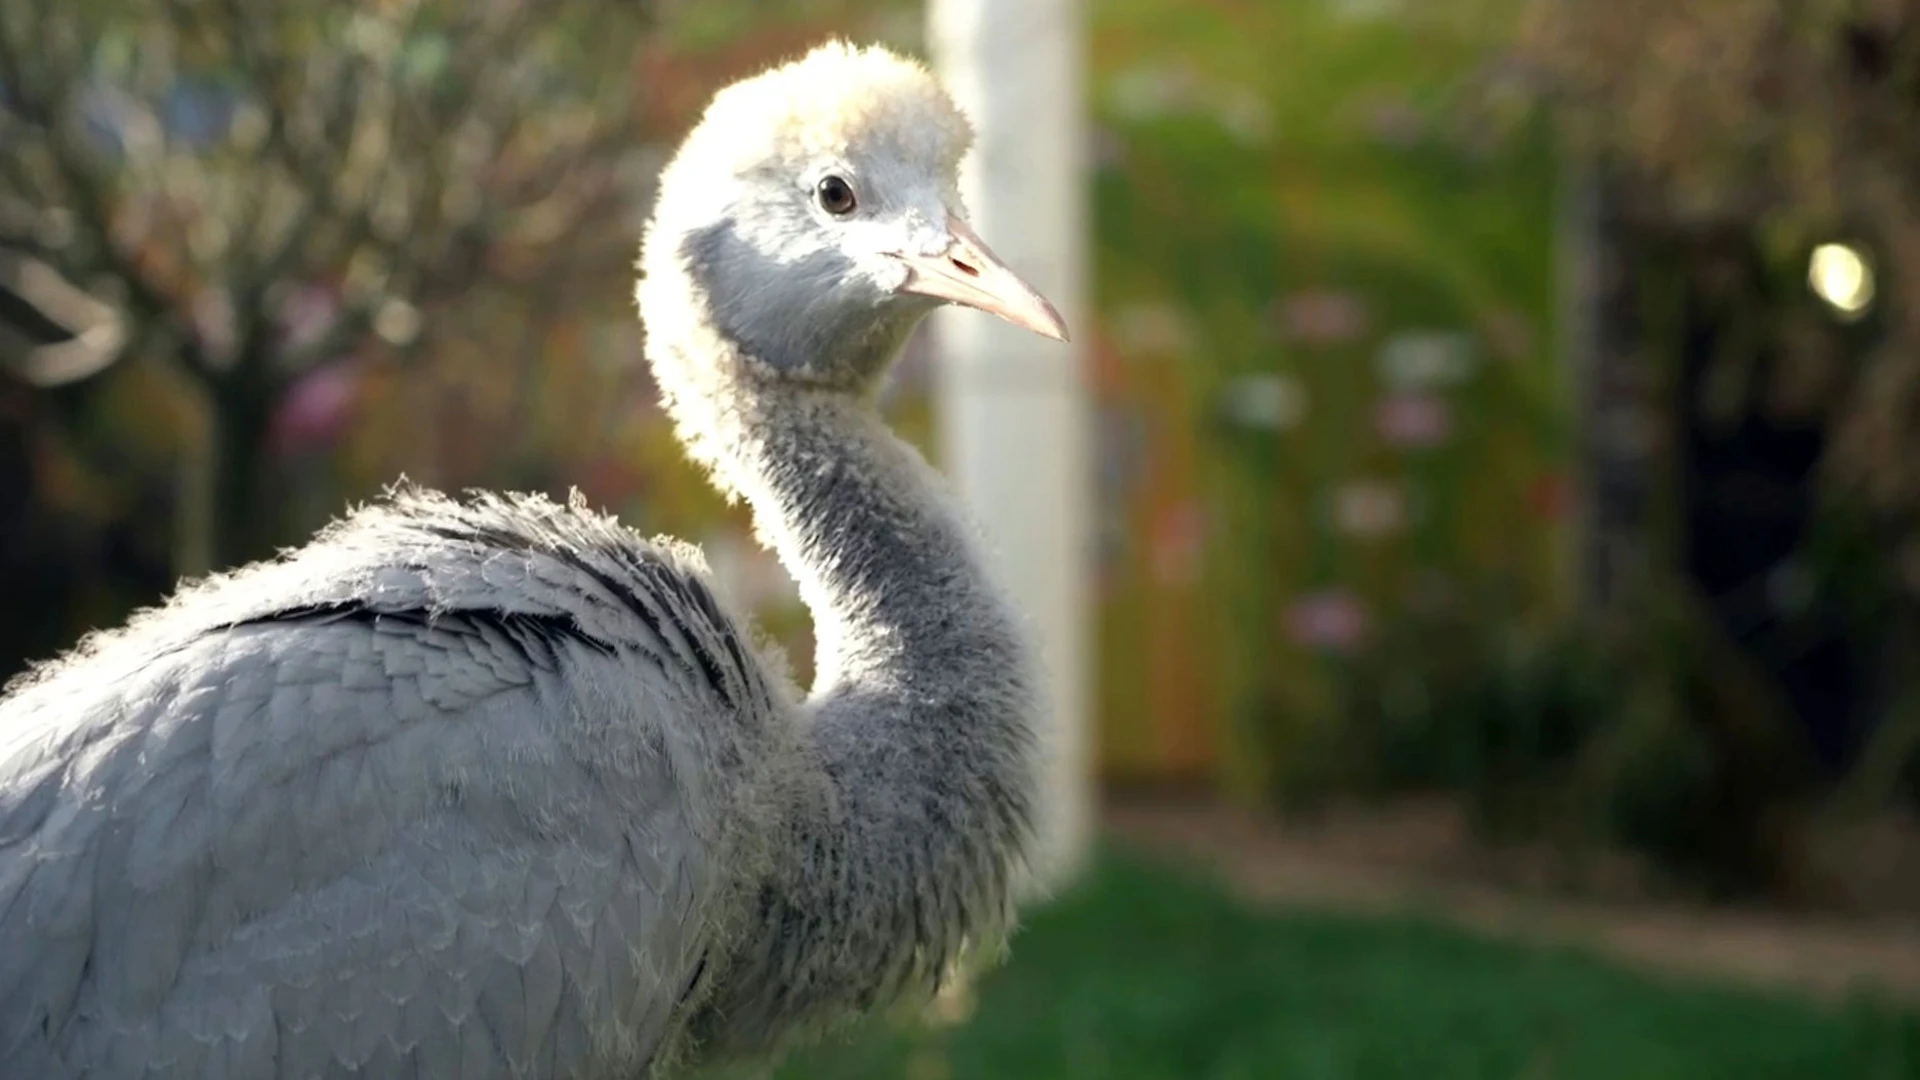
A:
{"label": "blurred bare tree with trunk and branches behind the bird's back", "polygon": [[0,0],[0,250],[109,306],[96,369],[165,357],[204,396],[182,571],[284,540],[259,465],[296,375],[620,240],[643,29],[614,0]]}

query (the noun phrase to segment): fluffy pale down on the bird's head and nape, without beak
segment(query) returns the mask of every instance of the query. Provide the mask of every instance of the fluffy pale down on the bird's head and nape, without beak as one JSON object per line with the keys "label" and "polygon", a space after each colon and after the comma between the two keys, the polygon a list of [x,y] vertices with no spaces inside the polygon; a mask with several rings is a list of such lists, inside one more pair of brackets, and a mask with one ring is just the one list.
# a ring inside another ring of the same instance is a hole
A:
{"label": "fluffy pale down on the bird's head and nape, without beak", "polygon": [[[833,382],[851,369],[852,386],[870,384],[931,309],[895,294],[906,271],[883,252],[948,242],[972,142],[933,73],[881,46],[833,40],[714,96],[660,173],[636,290],[655,379],[695,459],[720,463],[762,405],[739,380],[753,365],[716,357],[797,342],[785,352],[804,354],[810,375]],[[822,211],[828,175],[852,183],[858,213]],[[737,244],[712,246],[716,231]]]}

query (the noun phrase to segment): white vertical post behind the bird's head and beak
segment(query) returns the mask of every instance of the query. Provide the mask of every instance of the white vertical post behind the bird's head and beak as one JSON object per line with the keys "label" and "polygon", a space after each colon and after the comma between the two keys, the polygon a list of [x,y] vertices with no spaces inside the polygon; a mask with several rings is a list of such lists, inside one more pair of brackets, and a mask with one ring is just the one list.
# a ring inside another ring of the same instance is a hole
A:
{"label": "white vertical post behind the bird's head and beak", "polygon": [[[973,119],[962,194],[973,229],[1087,332],[1079,0],[929,0],[933,60]],[[1043,888],[1092,838],[1089,753],[1091,461],[1081,352],[975,311],[935,321],[947,473],[995,571],[1031,619],[1048,676]]]}

